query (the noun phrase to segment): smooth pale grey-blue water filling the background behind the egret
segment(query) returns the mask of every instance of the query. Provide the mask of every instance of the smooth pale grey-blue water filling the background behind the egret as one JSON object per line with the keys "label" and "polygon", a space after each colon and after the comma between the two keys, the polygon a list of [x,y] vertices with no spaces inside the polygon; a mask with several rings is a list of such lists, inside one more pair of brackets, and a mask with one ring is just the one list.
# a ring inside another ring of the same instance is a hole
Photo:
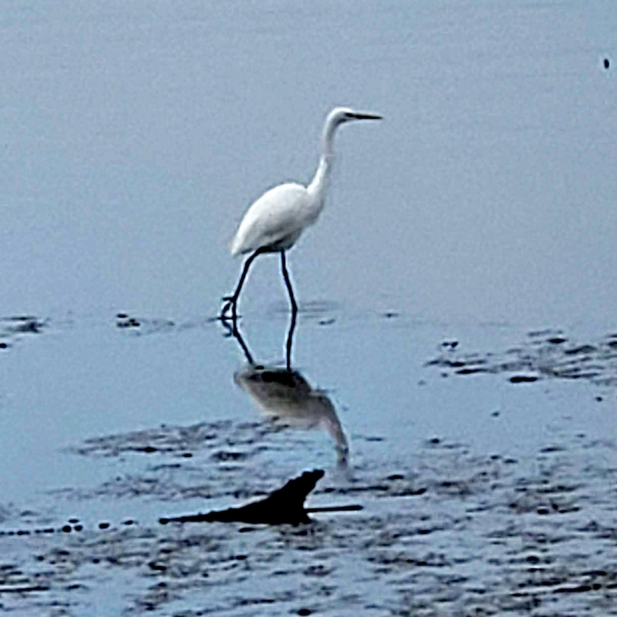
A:
{"label": "smooth pale grey-blue water filling the background behind the egret", "polygon": [[[447,321],[610,321],[615,48],[607,2],[38,2],[2,10],[7,314],[217,307],[263,189],[331,199],[300,299]],[[284,50],[284,51],[283,51]],[[615,60],[617,62],[617,60]],[[278,293],[256,268],[255,302]]]}

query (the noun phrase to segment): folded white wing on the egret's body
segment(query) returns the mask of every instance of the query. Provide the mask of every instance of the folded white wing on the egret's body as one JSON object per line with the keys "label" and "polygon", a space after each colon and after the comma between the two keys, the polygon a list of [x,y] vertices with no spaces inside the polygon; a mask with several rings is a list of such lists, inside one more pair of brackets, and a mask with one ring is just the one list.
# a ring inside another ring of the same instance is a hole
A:
{"label": "folded white wing on the egret's body", "polygon": [[231,242],[237,255],[261,247],[275,246],[286,238],[297,238],[307,225],[310,197],[301,184],[280,184],[264,193],[249,207]]}

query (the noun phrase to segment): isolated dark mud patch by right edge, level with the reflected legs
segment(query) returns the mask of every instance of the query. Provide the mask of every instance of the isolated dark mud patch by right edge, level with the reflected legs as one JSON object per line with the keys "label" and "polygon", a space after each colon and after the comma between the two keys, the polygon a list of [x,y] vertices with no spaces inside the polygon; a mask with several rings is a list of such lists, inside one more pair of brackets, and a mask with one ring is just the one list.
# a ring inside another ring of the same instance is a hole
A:
{"label": "isolated dark mud patch by right edge, level with the reflected legs", "polygon": [[501,352],[466,352],[464,345],[450,342],[427,365],[442,375],[506,375],[511,383],[541,379],[589,381],[617,386],[617,334],[598,341],[576,342],[560,330],[533,331],[519,346]]}

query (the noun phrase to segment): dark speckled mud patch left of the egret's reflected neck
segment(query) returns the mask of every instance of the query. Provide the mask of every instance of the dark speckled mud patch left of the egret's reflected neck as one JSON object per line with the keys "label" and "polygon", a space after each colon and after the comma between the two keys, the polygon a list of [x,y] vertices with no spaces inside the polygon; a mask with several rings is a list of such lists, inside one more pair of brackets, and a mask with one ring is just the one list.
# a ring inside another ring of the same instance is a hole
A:
{"label": "dark speckled mud patch left of the egret's reflected neck", "polygon": [[[72,499],[162,501],[259,497],[272,481],[268,457],[289,447],[290,440],[279,435],[283,430],[268,421],[216,421],[93,437],[67,452],[127,463],[138,457],[144,463],[141,471],[117,474],[95,489],[65,487],[54,493]],[[247,475],[249,468],[253,471]]]}

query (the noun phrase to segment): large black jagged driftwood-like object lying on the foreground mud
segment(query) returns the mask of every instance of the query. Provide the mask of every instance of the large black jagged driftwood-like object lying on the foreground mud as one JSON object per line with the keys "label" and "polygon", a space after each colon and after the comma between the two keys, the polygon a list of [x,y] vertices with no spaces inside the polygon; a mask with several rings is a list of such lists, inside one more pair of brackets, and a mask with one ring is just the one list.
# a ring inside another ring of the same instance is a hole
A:
{"label": "large black jagged driftwood-like object lying on the foreground mud", "polygon": [[360,505],[305,508],[304,500],[322,477],[323,471],[320,469],[305,471],[299,478],[289,480],[283,487],[271,492],[268,497],[257,502],[247,503],[240,508],[213,510],[206,514],[161,518],[159,523],[164,525],[167,523],[212,523],[218,521],[220,523],[267,525],[286,523],[299,525],[300,523],[310,523],[309,513],[312,512],[362,510]]}

